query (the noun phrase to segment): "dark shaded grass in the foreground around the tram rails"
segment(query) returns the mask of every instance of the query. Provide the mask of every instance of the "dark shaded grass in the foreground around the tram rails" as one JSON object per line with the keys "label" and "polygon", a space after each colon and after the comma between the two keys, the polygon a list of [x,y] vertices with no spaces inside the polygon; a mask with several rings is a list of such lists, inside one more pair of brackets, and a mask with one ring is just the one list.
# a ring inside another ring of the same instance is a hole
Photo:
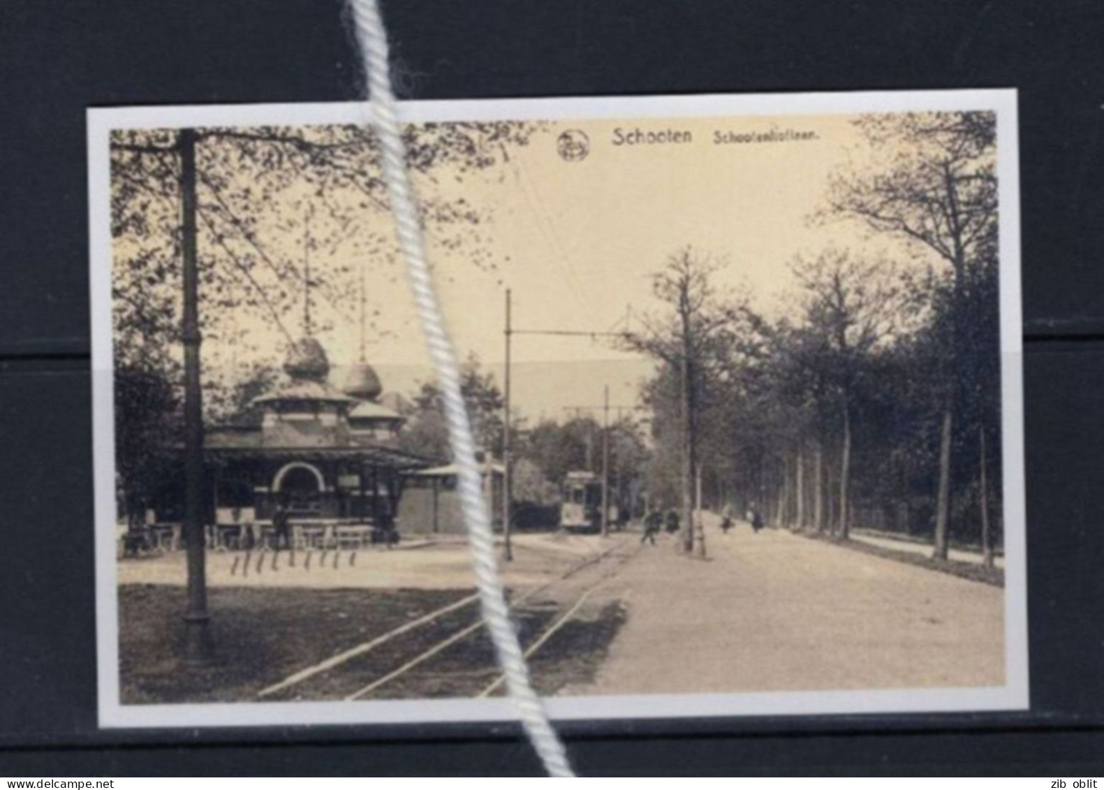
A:
{"label": "dark shaded grass in the foreground around the tram rails", "polygon": [[[447,605],[470,590],[316,590],[212,588],[211,660],[182,662],[184,589],[164,584],[119,587],[121,702],[253,702],[262,688],[405,622]],[[471,604],[380,649],[274,695],[272,699],[341,699],[474,622]],[[556,617],[548,608],[516,612],[522,645],[539,639]],[[542,694],[594,676],[624,622],[619,604],[581,613],[556,632],[531,662]],[[415,670],[381,687],[374,698],[466,697],[498,676],[493,649],[480,629]]]}

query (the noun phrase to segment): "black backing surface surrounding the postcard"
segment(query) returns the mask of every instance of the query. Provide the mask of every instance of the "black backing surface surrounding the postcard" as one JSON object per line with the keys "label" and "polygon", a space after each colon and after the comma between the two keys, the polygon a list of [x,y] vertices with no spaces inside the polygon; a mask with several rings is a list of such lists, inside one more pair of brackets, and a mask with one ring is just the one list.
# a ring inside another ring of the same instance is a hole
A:
{"label": "black backing surface surrounding the postcard", "polygon": [[[1104,773],[1104,9],[385,0],[417,98],[1016,87],[1027,714],[606,723],[586,775]],[[0,0],[0,775],[517,775],[511,727],[96,728],[85,108],[360,95],[339,0]],[[830,590],[826,591],[830,594]]]}

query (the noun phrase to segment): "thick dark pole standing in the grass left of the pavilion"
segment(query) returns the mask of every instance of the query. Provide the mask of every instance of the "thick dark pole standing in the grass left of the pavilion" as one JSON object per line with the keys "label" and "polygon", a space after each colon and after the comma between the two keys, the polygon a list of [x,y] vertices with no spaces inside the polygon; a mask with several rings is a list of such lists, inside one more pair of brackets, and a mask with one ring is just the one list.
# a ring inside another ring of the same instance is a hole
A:
{"label": "thick dark pole standing in the grass left of the pavilion", "polygon": [[181,252],[183,254],[184,346],[184,545],[188,604],[184,659],[202,661],[210,652],[206,605],[206,536],[203,529],[203,401],[200,389],[199,267],[195,243],[195,129],[181,129]]}

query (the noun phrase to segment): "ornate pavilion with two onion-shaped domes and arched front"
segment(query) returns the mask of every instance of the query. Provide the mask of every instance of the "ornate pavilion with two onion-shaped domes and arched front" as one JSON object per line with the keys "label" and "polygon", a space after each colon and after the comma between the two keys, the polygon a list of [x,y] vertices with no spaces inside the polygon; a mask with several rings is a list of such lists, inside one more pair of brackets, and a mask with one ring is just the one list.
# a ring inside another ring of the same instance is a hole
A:
{"label": "ornate pavilion with two onion-shaped domes and arched front", "polygon": [[254,399],[247,424],[206,433],[212,540],[270,541],[280,503],[298,546],[390,539],[406,476],[433,460],[399,449],[403,418],[380,403],[380,379],[363,360],[339,390],[321,344],[307,336],[288,349],[284,372],[273,392]]}

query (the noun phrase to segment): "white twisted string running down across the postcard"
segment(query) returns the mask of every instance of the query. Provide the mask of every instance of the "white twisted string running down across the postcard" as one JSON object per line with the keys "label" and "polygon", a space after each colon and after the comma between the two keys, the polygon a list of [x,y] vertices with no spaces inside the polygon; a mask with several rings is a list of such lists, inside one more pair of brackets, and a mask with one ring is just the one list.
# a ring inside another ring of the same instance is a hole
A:
{"label": "white twisted string running down across the postcard", "polygon": [[573,777],[563,744],[530,683],[529,667],[510,622],[509,608],[498,575],[490,515],[482,497],[471,428],[460,394],[459,367],[437,304],[426,263],[425,239],[406,172],[405,146],[391,89],[388,38],[379,2],[350,0],[349,6],[364,60],[372,125],[379,137],[383,173],[391,197],[391,213],[395,220],[399,245],[406,261],[406,276],[417,306],[422,331],[440,383],[449,444],[459,467],[460,504],[471,547],[471,565],[476,573],[484,622],[495,643],[498,662],[506,676],[507,691],[517,705],[521,723],[543,761],[544,769],[552,777]]}

